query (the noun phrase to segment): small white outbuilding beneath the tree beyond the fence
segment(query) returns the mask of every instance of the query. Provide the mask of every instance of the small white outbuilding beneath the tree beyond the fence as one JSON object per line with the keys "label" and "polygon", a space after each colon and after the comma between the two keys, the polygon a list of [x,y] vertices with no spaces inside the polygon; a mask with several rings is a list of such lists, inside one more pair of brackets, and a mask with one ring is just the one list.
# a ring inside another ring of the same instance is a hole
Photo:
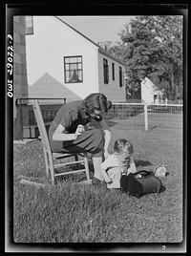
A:
{"label": "small white outbuilding beneath the tree beyond the fence", "polygon": [[159,104],[162,103],[162,96],[163,93],[148,77],[141,81],[141,100],[143,102]]}

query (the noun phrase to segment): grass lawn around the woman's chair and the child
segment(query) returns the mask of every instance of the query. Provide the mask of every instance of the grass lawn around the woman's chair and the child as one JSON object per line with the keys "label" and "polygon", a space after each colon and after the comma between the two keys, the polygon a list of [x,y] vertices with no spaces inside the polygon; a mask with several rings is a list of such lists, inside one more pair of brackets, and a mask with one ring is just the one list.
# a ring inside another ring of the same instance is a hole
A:
{"label": "grass lawn around the woman's chair and the child", "polygon": [[[48,182],[41,143],[14,144],[13,240],[15,243],[180,243],[182,241],[182,138],[180,133],[126,130],[118,121],[113,139],[129,139],[140,169],[166,164],[163,193],[137,199],[104,185],[76,184],[68,175],[54,186],[33,187],[18,176]],[[122,129],[123,128],[123,129]],[[91,174],[93,175],[93,174]],[[44,180],[43,180],[44,179]]]}

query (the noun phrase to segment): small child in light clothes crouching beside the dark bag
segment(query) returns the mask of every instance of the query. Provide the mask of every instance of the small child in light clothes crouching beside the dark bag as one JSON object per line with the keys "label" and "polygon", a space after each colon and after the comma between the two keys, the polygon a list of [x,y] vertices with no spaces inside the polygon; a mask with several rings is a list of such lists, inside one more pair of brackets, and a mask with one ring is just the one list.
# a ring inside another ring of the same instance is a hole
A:
{"label": "small child in light clothes crouching beside the dark bag", "polygon": [[114,145],[115,153],[101,163],[101,172],[107,188],[120,188],[122,175],[137,172],[133,160],[134,148],[127,139],[117,139]]}

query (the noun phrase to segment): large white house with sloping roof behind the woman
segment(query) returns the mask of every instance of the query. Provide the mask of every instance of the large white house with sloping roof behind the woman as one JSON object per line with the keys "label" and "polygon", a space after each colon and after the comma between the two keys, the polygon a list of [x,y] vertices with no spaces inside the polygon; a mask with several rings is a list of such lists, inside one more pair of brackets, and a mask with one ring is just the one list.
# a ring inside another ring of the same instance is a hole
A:
{"label": "large white house with sloping roof behind the woman", "polygon": [[113,102],[125,101],[125,63],[56,16],[31,16],[30,26],[29,97],[69,102],[97,92]]}

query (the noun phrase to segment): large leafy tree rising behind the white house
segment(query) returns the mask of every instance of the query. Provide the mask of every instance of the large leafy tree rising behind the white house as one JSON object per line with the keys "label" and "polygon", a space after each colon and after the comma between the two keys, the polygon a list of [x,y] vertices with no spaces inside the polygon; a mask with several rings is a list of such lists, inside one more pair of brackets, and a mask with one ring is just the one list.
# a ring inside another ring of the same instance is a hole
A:
{"label": "large leafy tree rising behind the white house", "polygon": [[148,76],[159,81],[160,89],[168,98],[181,95],[181,16],[137,16],[118,34],[121,42],[106,41],[100,46],[126,62],[131,89],[138,90],[138,80]]}

